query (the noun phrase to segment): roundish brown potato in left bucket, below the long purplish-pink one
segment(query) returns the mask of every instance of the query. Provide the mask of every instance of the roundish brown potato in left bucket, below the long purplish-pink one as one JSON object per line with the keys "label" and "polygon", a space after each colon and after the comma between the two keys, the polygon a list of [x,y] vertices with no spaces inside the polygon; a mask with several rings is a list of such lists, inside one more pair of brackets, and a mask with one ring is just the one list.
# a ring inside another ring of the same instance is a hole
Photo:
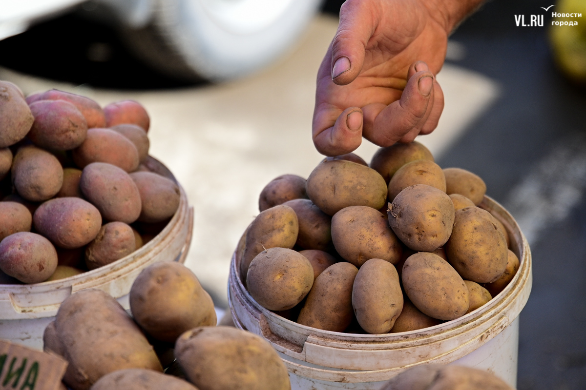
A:
{"label": "roundish brown potato in left bucket, below the long purplish-pink one", "polygon": [[34,146],[21,147],[12,164],[12,184],[27,201],[46,201],[61,189],[63,168],[53,154]]}

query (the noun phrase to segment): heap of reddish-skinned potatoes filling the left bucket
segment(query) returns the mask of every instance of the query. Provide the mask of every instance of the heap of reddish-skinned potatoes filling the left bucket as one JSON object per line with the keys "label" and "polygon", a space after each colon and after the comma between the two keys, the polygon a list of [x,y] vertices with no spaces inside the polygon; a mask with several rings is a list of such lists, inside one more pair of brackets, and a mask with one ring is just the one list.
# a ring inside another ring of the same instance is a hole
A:
{"label": "heap of reddish-skinned potatoes filling the left bucket", "polygon": [[180,192],[148,155],[149,122],[135,101],[0,81],[0,284],[94,270],[162,230]]}

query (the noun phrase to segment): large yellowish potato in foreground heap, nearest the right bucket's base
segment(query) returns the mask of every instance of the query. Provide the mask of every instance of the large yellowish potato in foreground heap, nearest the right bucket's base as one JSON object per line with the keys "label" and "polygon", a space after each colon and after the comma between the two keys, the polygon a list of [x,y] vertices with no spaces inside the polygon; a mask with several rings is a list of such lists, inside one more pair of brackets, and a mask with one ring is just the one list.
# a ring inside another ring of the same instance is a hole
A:
{"label": "large yellowish potato in foreground heap, nearest the right bucket's base", "polygon": [[263,338],[231,326],[197,327],[183,333],[175,356],[199,390],[289,390],[285,364]]}

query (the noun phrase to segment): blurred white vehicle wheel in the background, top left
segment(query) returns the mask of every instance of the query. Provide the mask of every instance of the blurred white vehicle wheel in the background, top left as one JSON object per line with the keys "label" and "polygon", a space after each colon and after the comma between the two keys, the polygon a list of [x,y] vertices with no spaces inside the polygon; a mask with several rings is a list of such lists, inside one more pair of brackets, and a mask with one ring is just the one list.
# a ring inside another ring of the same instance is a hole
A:
{"label": "blurred white vehicle wheel in the background, top left", "polygon": [[122,39],[163,74],[224,81],[254,73],[287,51],[321,0],[152,0],[149,22]]}

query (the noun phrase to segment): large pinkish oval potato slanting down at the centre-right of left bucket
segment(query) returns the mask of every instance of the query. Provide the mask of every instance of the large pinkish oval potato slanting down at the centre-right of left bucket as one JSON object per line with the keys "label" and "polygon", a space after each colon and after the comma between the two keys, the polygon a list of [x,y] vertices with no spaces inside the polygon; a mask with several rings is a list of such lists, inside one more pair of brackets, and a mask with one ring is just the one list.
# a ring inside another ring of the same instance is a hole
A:
{"label": "large pinkish oval potato slanting down at the centre-right of left bucket", "polygon": [[81,193],[108,221],[132,223],[141,215],[141,195],[134,180],[121,168],[91,163],[81,172]]}

